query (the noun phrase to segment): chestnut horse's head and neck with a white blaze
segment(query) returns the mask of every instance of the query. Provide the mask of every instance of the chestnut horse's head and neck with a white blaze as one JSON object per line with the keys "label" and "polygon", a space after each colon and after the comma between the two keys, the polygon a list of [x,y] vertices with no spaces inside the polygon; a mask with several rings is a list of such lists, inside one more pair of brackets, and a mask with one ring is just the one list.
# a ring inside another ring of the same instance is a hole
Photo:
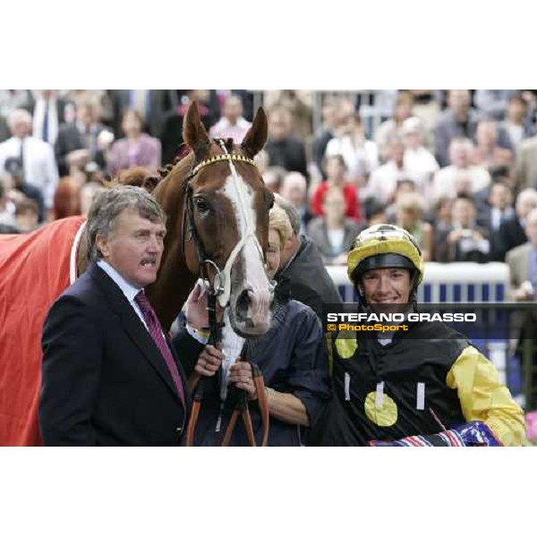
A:
{"label": "chestnut horse's head and neck with a white blaze", "polygon": [[[183,139],[192,149],[153,192],[168,216],[158,280],[148,294],[169,328],[196,279],[207,272],[234,331],[260,336],[270,325],[272,286],[264,267],[268,210],[274,197],[252,158],[267,141],[260,108],[240,146],[211,141],[195,103]],[[217,281],[215,281],[217,280]]]}

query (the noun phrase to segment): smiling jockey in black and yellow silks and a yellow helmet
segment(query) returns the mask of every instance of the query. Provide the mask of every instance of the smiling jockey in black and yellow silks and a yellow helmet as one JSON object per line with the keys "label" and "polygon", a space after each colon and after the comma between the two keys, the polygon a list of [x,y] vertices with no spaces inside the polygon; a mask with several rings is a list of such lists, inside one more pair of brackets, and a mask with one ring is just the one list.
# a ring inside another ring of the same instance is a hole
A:
{"label": "smiling jockey in black and yellow silks and a yellow helmet", "polygon": [[[365,229],[354,240],[347,266],[361,311],[417,310],[424,264],[404,229]],[[388,337],[334,333],[334,395],[316,441],[331,446],[522,445],[524,414],[492,363],[443,322],[405,324],[407,331],[390,331]]]}

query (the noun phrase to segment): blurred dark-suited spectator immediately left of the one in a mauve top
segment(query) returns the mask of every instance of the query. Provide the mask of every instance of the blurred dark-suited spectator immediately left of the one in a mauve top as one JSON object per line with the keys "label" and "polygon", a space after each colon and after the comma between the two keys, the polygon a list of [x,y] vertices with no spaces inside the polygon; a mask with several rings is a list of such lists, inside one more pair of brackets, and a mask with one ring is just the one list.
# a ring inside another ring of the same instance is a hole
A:
{"label": "blurred dark-suited spectator immediately left of the one in a mauve top", "polygon": [[106,150],[113,140],[112,132],[98,121],[97,107],[90,101],[81,104],[75,123],[62,125],[55,141],[60,175],[71,175],[72,168],[83,170],[88,165],[105,169]]}

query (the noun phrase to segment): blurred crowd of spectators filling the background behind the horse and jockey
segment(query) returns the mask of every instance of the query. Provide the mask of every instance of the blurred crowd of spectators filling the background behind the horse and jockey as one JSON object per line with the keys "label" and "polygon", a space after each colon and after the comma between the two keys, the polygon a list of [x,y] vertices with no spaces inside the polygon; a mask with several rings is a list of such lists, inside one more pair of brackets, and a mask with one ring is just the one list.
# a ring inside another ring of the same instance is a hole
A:
{"label": "blurred crowd of spectators filling the background behind the horse and jockey", "polygon": [[157,173],[192,100],[212,137],[235,142],[265,107],[257,164],[327,264],[382,222],[439,262],[503,261],[528,241],[535,90],[0,90],[0,232],[86,214],[128,167]]}

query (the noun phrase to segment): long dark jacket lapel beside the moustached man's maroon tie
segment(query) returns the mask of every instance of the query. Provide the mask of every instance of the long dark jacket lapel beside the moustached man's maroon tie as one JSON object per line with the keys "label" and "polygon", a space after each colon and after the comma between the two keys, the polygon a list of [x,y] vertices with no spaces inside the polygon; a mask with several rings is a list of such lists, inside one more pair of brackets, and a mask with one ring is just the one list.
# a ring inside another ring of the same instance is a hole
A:
{"label": "long dark jacket lapel beside the moustached man's maroon tie", "polygon": [[[141,354],[143,354],[143,356],[150,362],[161,379],[166,382],[168,388],[170,388],[175,396],[180,399],[179,394],[177,394],[177,388],[175,388],[174,379],[172,379],[172,374],[168,370],[162,354],[160,354],[153,338],[149,336],[148,330],[144,327],[140,318],[132,309],[131,304],[123,294],[122,290],[116,286],[115,282],[107,276],[106,272],[98,268],[95,263],[92,263],[88,270],[91,277],[93,277],[98,285],[105,290],[105,296],[107,296],[110,307],[121,318],[125,332],[132,339],[134,345],[140,349]],[[184,382],[183,386],[186,386]]]}

